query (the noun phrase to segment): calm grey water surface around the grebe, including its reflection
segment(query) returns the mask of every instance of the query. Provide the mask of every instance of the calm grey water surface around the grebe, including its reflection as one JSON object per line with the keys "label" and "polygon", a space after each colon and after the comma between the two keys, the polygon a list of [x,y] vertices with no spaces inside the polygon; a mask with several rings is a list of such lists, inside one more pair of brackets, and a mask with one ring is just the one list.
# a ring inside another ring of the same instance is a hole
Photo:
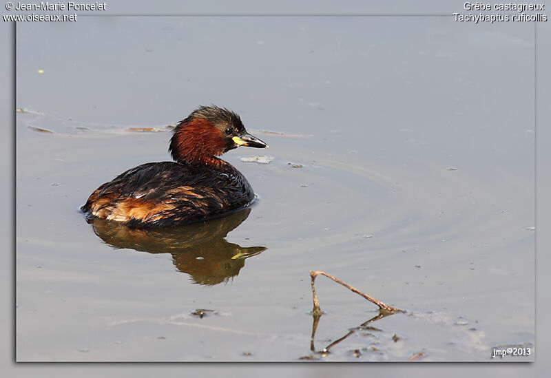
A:
{"label": "calm grey water surface around the grebe, including its reflection", "polygon": [[[19,361],[488,361],[534,347],[531,25],[70,28],[17,25]],[[258,194],[251,209],[161,234],[87,224],[98,185],[169,160],[167,125],[210,103],[270,145],[268,164],[224,156]],[[355,332],[314,353],[311,270],[407,312],[357,328],[377,307],[319,277],[314,350]]]}

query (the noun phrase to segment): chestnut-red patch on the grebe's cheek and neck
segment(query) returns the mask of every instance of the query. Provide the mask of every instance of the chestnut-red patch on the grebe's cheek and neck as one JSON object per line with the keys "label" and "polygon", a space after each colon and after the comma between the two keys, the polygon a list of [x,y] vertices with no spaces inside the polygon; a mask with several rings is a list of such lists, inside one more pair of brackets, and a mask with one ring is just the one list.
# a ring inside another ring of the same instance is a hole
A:
{"label": "chestnut-red patch on the grebe's cheek and neck", "polygon": [[222,160],[216,156],[225,152],[225,140],[209,120],[193,118],[176,126],[169,151],[177,162],[219,167]]}

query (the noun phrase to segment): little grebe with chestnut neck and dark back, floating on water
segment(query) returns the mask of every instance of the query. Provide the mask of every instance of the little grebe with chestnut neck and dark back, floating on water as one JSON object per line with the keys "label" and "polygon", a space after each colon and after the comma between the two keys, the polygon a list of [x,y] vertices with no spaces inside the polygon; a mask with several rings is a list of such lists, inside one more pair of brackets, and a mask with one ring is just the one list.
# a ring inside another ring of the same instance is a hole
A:
{"label": "little grebe with chestnut neck and dark back, floating on water", "polygon": [[201,106],[174,129],[175,162],[149,162],[98,187],[81,207],[89,219],[129,227],[169,227],[217,218],[254,200],[240,171],[216,156],[239,146],[264,148],[228,109]]}

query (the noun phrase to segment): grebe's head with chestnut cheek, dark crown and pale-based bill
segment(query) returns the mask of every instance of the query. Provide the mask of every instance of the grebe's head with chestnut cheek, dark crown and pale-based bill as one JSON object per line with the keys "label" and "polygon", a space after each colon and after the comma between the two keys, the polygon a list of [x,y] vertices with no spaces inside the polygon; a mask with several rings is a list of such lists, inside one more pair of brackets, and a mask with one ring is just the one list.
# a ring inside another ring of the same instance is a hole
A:
{"label": "grebe's head with chestnut cheek, dark crown and pale-based bill", "polygon": [[247,133],[237,114],[211,105],[198,107],[176,125],[169,152],[177,162],[210,162],[239,146],[268,147]]}

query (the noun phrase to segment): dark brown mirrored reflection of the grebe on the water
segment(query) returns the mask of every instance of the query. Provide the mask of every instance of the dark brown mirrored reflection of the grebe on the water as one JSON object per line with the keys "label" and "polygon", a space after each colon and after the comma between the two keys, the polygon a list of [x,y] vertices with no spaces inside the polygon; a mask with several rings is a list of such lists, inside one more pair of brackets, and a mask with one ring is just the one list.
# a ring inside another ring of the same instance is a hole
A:
{"label": "dark brown mirrored reflection of the grebe on the water", "polygon": [[267,249],[242,247],[225,240],[250,212],[247,208],[222,218],[165,229],[129,229],[99,218],[89,222],[96,235],[117,249],[170,253],[178,271],[189,274],[197,284],[216,285],[238,275],[245,259]]}

